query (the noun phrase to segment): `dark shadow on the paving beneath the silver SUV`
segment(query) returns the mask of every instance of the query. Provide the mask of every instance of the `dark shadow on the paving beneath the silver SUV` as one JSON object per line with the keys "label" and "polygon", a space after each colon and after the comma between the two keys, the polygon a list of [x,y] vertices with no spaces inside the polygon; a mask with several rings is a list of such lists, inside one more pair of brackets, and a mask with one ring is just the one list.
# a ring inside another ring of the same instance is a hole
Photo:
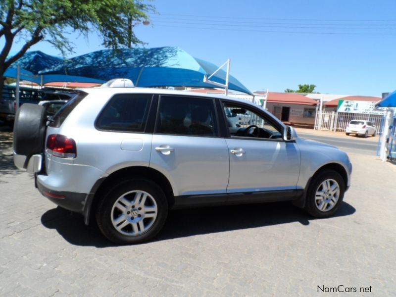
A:
{"label": "dark shadow on the paving beneath the silver SUV", "polygon": [[[344,202],[335,217],[351,215],[355,211],[353,206]],[[173,210],[169,212],[164,228],[153,241],[292,222],[306,226],[311,220],[315,218],[308,216],[302,209],[289,202]],[[49,229],[56,229],[72,245],[116,246],[102,236],[94,222],[90,226],[85,226],[80,214],[59,206],[44,213],[41,222]]]}

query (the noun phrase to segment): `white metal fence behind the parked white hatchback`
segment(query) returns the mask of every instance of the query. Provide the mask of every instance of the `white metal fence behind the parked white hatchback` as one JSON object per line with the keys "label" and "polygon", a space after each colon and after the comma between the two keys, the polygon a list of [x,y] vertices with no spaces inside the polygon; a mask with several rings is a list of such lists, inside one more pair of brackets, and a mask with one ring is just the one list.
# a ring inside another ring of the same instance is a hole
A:
{"label": "white metal fence behind the parked white hatchback", "polygon": [[365,113],[349,113],[349,112],[335,112],[327,111],[318,115],[315,122],[315,129],[340,131],[345,132],[347,124],[351,120],[366,120],[371,121],[377,128],[377,133],[382,132],[383,114],[365,114]]}

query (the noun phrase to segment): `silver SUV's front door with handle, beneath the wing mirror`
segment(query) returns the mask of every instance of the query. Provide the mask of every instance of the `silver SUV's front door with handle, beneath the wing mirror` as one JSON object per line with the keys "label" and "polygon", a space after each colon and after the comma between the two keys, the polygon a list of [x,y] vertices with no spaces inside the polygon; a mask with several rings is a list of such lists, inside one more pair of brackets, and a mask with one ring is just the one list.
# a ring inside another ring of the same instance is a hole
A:
{"label": "silver SUV's front door with handle, beneath the wing mirror", "polygon": [[299,149],[282,139],[282,126],[264,111],[248,105],[225,103],[231,113],[250,117],[253,126],[230,130],[228,193],[294,190],[299,175]]}

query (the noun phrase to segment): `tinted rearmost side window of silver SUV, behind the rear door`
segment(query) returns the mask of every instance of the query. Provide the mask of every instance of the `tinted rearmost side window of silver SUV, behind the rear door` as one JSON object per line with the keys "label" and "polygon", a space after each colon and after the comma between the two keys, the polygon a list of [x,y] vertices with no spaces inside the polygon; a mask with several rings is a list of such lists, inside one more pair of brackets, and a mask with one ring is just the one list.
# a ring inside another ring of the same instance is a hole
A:
{"label": "tinted rearmost side window of silver SUV, behind the rear door", "polygon": [[143,132],[147,122],[151,94],[115,95],[100,113],[99,130]]}

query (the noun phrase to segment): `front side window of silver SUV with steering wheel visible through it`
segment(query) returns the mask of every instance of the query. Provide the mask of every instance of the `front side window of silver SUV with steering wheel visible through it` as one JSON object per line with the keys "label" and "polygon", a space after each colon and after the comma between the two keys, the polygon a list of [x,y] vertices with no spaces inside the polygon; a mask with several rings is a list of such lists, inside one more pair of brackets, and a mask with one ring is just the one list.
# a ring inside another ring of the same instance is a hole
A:
{"label": "front side window of silver SUV with steering wheel visible through it", "polygon": [[231,137],[282,138],[279,128],[252,109],[225,103],[224,112]]}

